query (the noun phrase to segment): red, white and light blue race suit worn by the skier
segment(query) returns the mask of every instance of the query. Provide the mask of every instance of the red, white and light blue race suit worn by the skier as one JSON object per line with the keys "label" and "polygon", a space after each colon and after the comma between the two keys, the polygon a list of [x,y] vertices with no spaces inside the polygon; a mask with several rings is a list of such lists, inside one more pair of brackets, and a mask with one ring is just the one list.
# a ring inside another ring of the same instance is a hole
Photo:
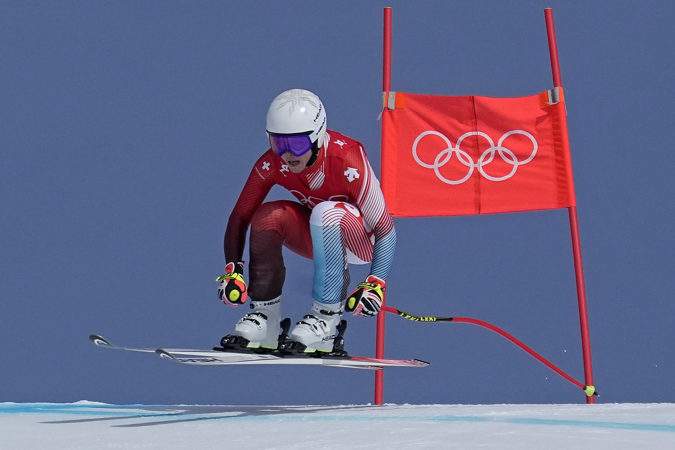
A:
{"label": "red, white and light blue race suit worn by the skier", "polygon": [[[299,203],[263,204],[275,184]],[[227,262],[242,260],[249,224],[249,292],[255,300],[281,294],[282,246],[315,259],[313,296],[324,303],[346,297],[346,262],[371,262],[371,275],[385,280],[396,248],[394,221],[362,144],[331,130],[317,160],[300,173],[271,149],[258,159],[227,223]]]}

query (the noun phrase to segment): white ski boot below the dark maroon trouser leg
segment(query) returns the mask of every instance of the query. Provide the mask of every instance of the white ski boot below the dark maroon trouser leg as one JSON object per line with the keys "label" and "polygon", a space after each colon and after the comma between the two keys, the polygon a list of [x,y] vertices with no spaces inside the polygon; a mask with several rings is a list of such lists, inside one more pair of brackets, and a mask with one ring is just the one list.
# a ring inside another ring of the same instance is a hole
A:
{"label": "white ski boot below the dark maroon trouser leg", "polygon": [[279,343],[281,297],[269,302],[251,302],[252,312],[239,319],[234,334],[221,339],[225,351],[269,352]]}

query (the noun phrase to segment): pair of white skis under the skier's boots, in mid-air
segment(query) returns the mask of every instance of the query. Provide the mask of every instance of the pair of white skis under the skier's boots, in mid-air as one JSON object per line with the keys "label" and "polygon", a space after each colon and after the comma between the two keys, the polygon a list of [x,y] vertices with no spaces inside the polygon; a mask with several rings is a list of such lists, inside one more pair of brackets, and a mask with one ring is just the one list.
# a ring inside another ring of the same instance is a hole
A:
{"label": "pair of white skis under the skier's boots, in mid-air", "polygon": [[276,354],[248,354],[234,351],[200,350],[200,349],[149,349],[120,347],[105,337],[90,335],[89,341],[98,347],[119,350],[154,353],[161,358],[192,366],[225,366],[241,364],[291,364],[318,365],[330,367],[358,368],[382,370],[385,367],[426,367],[430,363],[421,360],[385,360],[362,358],[358,356],[317,358],[313,356],[279,356]]}

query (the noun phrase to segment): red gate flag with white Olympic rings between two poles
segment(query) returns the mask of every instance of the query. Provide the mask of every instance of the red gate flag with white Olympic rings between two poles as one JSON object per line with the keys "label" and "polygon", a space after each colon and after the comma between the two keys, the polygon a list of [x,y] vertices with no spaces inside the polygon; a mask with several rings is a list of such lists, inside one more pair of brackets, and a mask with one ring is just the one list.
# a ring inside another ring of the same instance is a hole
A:
{"label": "red gate flag with white Olympic rings between two poles", "polygon": [[515,99],[384,96],[382,190],[392,215],[575,206],[562,88]]}

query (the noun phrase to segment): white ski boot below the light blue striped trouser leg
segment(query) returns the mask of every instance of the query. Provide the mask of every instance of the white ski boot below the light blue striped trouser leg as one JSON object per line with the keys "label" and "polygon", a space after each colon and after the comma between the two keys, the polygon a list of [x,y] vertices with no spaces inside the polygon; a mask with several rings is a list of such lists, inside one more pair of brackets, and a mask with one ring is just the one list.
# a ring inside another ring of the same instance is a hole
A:
{"label": "white ski boot below the light blue striped trouser leg", "polygon": [[[281,343],[279,350],[286,354],[329,354],[333,351],[335,331],[342,318],[342,303],[312,302],[312,310],[304,316]],[[345,323],[346,326],[346,323]],[[344,331],[342,331],[344,333]],[[319,356],[317,354],[317,356]]]}

